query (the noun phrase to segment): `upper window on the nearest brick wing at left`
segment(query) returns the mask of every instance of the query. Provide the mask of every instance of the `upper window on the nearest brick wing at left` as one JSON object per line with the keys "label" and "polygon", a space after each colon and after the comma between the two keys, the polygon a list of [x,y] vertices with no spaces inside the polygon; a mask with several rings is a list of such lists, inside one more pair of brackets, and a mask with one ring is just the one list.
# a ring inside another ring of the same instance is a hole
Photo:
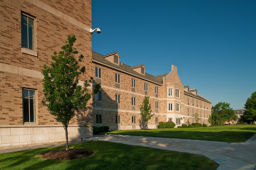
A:
{"label": "upper window on the nearest brick wing at left", "polygon": [[35,18],[21,14],[21,47],[35,50]]}

